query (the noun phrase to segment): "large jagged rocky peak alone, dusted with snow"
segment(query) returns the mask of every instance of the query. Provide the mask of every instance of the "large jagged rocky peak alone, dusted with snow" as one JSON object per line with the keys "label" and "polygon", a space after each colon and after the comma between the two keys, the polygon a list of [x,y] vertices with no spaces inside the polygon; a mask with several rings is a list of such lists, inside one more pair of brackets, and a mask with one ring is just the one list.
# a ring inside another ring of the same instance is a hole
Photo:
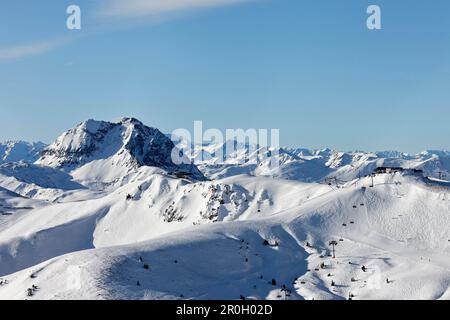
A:
{"label": "large jagged rocky peak alone, dusted with snow", "polygon": [[63,133],[42,152],[36,164],[61,169],[82,183],[94,185],[115,183],[142,166],[203,180],[194,165],[172,162],[174,147],[158,129],[133,118],[117,123],[88,120]]}

